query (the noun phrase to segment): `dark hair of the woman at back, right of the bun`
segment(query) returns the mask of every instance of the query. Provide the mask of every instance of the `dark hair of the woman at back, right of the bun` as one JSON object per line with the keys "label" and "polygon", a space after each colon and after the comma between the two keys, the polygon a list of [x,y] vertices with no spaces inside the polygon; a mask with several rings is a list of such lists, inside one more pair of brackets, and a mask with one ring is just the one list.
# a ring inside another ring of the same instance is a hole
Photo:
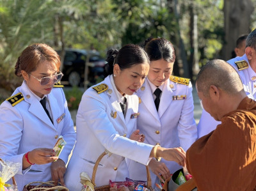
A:
{"label": "dark hair of the woman at back, right of the bun", "polygon": [[144,43],[150,61],[164,59],[168,62],[175,61],[175,51],[171,42],[164,38],[148,38]]}

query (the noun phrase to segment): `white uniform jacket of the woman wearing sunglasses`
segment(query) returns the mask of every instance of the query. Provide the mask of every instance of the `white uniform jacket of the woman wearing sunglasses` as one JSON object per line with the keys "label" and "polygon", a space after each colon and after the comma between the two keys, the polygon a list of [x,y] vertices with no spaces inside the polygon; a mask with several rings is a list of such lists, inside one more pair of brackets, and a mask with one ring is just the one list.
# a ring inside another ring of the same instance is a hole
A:
{"label": "white uniform jacket of the woman wearing sunglasses", "polygon": [[[21,102],[15,106],[4,101],[0,106],[0,158],[22,164],[25,153],[35,148],[51,149],[58,137],[62,135],[67,144],[59,158],[67,164],[68,155],[76,141],[76,133],[62,88],[53,88],[47,95],[54,124],[25,81],[13,95],[17,93],[22,93],[24,100],[20,100]],[[31,181],[49,181],[51,180],[51,163],[31,165],[23,171],[20,167],[15,180],[18,190],[22,190],[24,185]]]}

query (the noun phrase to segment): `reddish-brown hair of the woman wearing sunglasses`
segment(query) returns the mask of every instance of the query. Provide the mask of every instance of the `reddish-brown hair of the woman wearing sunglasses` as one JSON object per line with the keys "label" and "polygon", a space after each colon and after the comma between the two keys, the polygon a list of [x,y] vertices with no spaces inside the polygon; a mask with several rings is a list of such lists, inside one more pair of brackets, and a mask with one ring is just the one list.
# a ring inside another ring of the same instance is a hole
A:
{"label": "reddish-brown hair of the woman wearing sunglasses", "polygon": [[44,43],[30,45],[18,57],[15,75],[21,77],[21,70],[31,73],[44,61],[51,62],[60,70],[60,56],[54,49]]}

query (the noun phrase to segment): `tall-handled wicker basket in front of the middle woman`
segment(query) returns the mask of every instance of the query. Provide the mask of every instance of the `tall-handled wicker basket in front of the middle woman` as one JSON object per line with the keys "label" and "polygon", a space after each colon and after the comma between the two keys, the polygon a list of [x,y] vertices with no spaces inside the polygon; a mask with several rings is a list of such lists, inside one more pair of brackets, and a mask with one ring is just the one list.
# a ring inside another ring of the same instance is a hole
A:
{"label": "tall-handled wicker basket in front of the middle woman", "polygon": [[[92,183],[93,183],[94,187],[95,187],[95,175],[96,175],[96,171],[97,171],[98,165],[99,165],[99,163],[100,163],[100,160],[101,160],[105,155],[107,155],[107,152],[106,152],[106,151],[104,151],[104,152],[99,156],[99,158],[96,160],[95,165],[94,165],[94,167],[93,167]],[[151,183],[150,172],[149,172],[148,166],[146,166],[146,169],[147,169],[147,188],[148,188],[149,190],[153,190],[153,188],[152,188],[152,183]],[[110,188],[109,185],[105,185],[105,186],[101,186],[101,187],[95,187],[95,191],[109,191],[109,188]]]}

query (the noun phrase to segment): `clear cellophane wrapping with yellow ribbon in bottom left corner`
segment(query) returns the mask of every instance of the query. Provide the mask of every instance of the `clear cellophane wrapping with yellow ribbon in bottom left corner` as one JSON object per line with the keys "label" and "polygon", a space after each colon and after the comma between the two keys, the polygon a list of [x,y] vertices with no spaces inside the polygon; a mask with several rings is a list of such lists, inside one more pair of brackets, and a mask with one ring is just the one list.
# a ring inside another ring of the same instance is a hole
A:
{"label": "clear cellophane wrapping with yellow ribbon in bottom left corner", "polygon": [[3,161],[0,159],[0,190],[8,190],[8,191],[17,191],[17,185],[6,184],[6,181],[10,180],[20,169],[21,164],[10,162],[10,161]]}

